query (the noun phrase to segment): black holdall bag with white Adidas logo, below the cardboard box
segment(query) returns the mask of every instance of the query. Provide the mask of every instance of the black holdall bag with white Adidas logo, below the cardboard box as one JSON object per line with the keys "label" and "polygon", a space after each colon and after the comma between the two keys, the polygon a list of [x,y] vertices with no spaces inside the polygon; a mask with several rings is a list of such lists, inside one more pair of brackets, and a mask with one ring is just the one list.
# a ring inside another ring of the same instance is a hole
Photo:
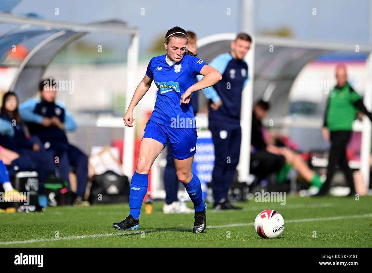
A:
{"label": "black holdall bag with white Adidas logo, below the cardboard box", "polygon": [[108,170],[102,175],[94,175],[89,194],[90,204],[110,204],[129,202],[129,180]]}

